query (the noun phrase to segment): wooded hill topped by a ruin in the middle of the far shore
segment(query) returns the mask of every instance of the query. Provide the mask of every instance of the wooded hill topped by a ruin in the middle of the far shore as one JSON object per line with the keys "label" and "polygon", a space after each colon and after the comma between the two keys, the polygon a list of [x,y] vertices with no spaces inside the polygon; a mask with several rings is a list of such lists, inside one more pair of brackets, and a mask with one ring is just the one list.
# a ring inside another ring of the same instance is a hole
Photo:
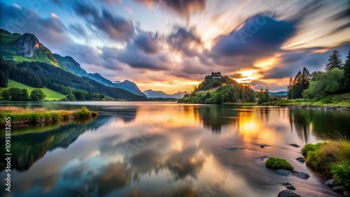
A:
{"label": "wooded hill topped by a ruin in the middle of the far shore", "polygon": [[221,104],[234,102],[253,102],[255,94],[249,85],[242,85],[221,73],[211,73],[195,87],[193,92],[186,94],[179,103]]}

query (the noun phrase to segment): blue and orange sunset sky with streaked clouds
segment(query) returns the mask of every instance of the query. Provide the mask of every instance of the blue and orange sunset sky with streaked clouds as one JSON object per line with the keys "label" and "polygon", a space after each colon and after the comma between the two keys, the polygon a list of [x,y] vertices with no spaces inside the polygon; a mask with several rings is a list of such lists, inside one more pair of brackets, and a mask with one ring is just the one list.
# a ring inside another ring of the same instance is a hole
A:
{"label": "blue and orange sunset sky with streaked clouds", "polygon": [[0,27],[35,34],[88,73],[141,91],[193,90],[211,72],[286,91],[350,50],[348,0],[0,0]]}

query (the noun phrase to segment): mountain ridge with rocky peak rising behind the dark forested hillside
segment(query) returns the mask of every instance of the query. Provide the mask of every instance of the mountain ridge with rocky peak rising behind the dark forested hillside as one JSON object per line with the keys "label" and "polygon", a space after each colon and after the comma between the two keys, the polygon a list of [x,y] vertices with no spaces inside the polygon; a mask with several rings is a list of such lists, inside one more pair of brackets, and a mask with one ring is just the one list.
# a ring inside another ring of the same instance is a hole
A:
{"label": "mountain ridge with rocky peak rising behind the dark forested hillside", "polygon": [[34,61],[51,64],[52,66],[62,68],[69,73],[95,80],[102,85],[125,89],[132,94],[146,97],[134,82],[129,80],[123,82],[111,82],[102,77],[102,75],[99,75],[99,73],[87,73],[72,57],[62,57],[59,54],[52,54],[48,48],[38,41],[38,38],[36,38],[34,34],[11,34],[4,29],[0,29],[0,41],[0,54],[3,59],[13,59],[13,61],[18,62]]}

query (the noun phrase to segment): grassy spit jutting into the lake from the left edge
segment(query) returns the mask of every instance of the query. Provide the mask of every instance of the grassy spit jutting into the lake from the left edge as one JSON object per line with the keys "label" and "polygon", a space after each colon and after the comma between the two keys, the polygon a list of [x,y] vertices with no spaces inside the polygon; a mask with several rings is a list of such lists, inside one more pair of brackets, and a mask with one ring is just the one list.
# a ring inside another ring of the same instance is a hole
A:
{"label": "grassy spit jutting into the lake from the left edge", "polygon": [[14,106],[0,107],[0,125],[6,124],[6,117],[10,117],[11,124],[40,124],[61,122],[97,117],[97,112],[82,107],[79,110],[46,110],[44,108],[18,108]]}

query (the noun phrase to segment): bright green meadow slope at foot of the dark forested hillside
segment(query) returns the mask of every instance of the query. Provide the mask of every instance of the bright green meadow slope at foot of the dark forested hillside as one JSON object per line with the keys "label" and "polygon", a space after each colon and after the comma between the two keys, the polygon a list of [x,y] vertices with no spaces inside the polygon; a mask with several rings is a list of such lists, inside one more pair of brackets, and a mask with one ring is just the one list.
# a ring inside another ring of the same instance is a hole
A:
{"label": "bright green meadow slope at foot of the dark forested hillside", "polygon": [[30,95],[31,91],[33,91],[33,89],[41,89],[43,91],[43,93],[46,95],[46,97],[44,99],[46,101],[58,101],[58,100],[64,98],[63,94],[59,94],[58,92],[55,92],[51,89],[48,89],[45,87],[44,88],[30,87],[30,86],[24,85],[20,82],[16,82],[14,80],[8,80],[8,87],[1,87],[0,92],[2,92],[4,89],[10,89],[11,87],[18,87],[20,89],[27,89],[29,95]]}

